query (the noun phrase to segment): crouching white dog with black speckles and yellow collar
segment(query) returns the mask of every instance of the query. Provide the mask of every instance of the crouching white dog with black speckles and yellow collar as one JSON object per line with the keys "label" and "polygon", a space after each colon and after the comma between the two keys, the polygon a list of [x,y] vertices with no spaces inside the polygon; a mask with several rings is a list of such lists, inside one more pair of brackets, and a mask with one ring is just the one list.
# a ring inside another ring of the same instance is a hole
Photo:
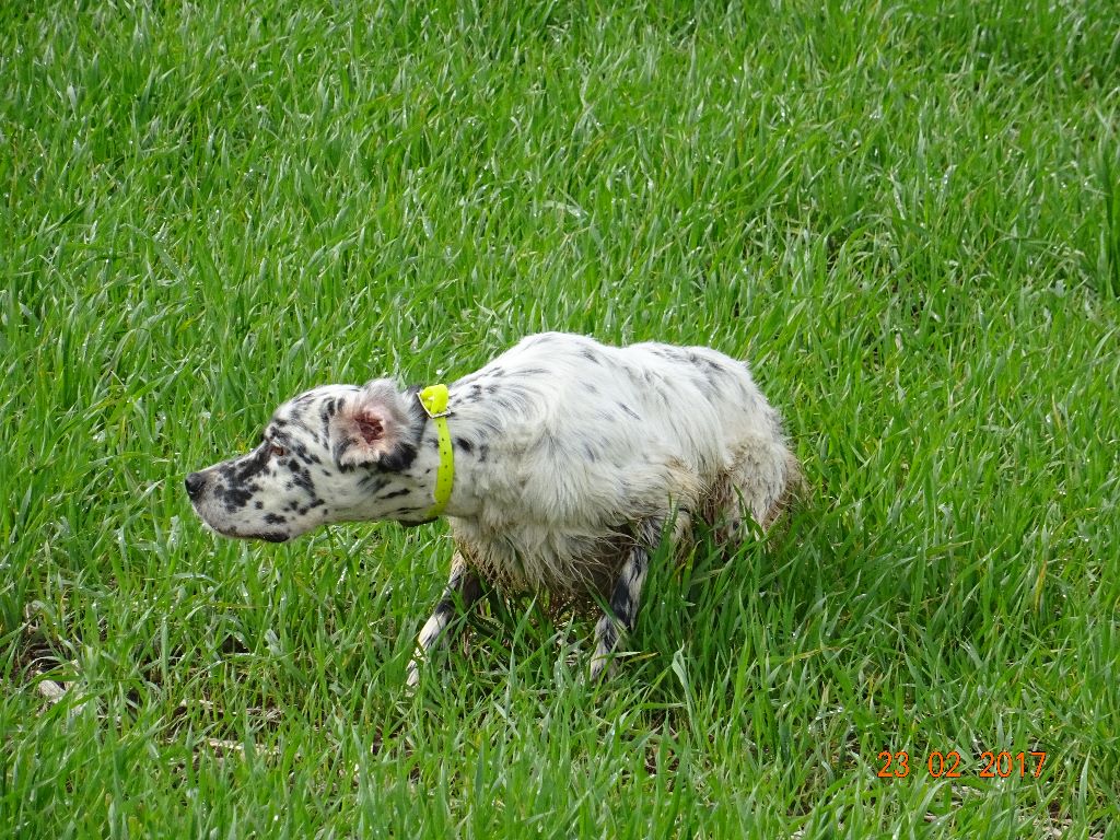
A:
{"label": "crouching white dog with black speckles and yellow collar", "polygon": [[679,543],[694,517],[725,543],[765,532],[802,486],[748,365],[708,347],[543,333],[452,382],[442,411],[428,398],[386,379],[316,388],[277,409],[253,451],[186,477],[203,522],[231,538],[283,542],[333,522],[446,513],[450,578],[409,685],[484,581],[605,604],[599,679],[634,628],[663,540]]}

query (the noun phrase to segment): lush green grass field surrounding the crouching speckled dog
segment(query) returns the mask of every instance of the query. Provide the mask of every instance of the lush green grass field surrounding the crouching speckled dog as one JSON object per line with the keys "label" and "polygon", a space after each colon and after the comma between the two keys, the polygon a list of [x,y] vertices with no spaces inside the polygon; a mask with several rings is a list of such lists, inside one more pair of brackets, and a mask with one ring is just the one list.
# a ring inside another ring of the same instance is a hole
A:
{"label": "lush green grass field surrounding the crouching speckled dog", "polygon": [[[0,833],[1120,836],[1114,2],[244,6],[0,8]],[[752,360],[812,487],[609,687],[495,601],[403,691],[442,523],[192,515],[545,328]]]}

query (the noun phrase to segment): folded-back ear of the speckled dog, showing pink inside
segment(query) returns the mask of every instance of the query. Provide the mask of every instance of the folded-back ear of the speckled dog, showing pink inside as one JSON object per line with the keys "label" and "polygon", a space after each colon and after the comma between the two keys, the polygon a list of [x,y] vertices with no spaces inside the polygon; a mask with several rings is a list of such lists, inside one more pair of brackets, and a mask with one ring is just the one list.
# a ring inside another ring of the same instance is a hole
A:
{"label": "folded-back ear of the speckled dog, showing pink inside", "polygon": [[376,464],[396,451],[408,433],[404,398],[391,380],[374,380],[338,408],[332,451],[340,467]]}

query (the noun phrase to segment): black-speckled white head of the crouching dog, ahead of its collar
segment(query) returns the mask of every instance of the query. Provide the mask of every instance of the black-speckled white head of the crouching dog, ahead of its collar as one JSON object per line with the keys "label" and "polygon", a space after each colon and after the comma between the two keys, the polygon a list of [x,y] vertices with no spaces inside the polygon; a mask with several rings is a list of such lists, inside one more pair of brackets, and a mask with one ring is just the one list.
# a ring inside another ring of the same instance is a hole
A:
{"label": "black-speckled white head of the crouching dog, ahead of its collar", "polygon": [[271,542],[329,522],[419,522],[424,422],[416,392],[389,380],[317,388],[277,409],[251,452],[188,475],[187,494],[218,533]]}

